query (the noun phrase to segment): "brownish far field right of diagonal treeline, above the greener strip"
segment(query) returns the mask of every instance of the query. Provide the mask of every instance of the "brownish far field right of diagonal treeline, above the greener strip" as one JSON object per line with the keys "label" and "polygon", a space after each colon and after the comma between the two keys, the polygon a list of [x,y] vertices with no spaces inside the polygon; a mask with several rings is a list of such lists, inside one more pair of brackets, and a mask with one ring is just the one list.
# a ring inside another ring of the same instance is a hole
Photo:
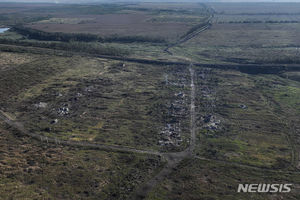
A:
{"label": "brownish far field right of diagonal treeline, above the greener strip", "polygon": [[[300,45],[298,24],[214,24],[212,28],[187,42],[201,46],[272,47]],[[189,43],[189,44],[188,44]]]}

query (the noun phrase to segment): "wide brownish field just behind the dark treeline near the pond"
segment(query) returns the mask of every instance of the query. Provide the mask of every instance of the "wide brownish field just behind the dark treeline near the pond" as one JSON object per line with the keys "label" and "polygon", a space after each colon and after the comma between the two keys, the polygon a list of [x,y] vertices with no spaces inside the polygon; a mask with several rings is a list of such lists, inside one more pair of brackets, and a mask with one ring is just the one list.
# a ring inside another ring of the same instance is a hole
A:
{"label": "wide brownish field just behind the dark treeline near the pond", "polygon": [[[174,39],[184,34],[191,27],[186,23],[153,23],[149,21],[153,16],[141,13],[76,16],[83,21],[85,18],[91,17],[94,19],[78,24],[35,23],[29,27],[49,32],[94,33],[101,36],[114,34],[163,36],[168,39]],[[65,16],[65,18],[68,19],[70,16]]]}

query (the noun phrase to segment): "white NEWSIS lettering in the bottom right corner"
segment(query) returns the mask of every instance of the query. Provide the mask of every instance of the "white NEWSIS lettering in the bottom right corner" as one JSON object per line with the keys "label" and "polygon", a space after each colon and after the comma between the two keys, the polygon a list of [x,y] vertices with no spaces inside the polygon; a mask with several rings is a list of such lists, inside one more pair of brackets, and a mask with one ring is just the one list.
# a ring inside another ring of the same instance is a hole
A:
{"label": "white NEWSIS lettering in the bottom right corner", "polygon": [[239,184],[237,192],[288,193],[293,184]]}

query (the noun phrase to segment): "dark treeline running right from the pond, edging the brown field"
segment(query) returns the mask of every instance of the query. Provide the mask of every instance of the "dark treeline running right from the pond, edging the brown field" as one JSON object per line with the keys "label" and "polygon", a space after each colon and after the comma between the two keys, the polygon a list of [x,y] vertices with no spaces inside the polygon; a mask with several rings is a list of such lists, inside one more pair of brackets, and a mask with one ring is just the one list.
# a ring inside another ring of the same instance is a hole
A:
{"label": "dark treeline running right from the pond, edging the brown field", "polygon": [[59,42],[151,42],[151,43],[165,43],[162,38],[151,38],[145,36],[118,36],[113,35],[107,38],[89,33],[62,33],[62,32],[45,32],[24,26],[15,26],[12,28],[15,31],[28,39],[43,40],[43,41],[59,41]]}

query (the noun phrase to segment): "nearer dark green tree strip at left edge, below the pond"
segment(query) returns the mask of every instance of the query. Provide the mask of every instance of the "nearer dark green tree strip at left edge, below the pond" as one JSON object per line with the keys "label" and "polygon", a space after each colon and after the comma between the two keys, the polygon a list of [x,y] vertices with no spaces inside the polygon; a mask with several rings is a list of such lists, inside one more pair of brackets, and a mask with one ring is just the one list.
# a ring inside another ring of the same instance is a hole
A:
{"label": "nearer dark green tree strip at left edge, below the pond", "polygon": [[39,42],[39,41],[20,41],[11,39],[1,39],[0,44],[9,45],[20,45],[25,47],[39,47],[39,48],[49,48],[55,50],[73,51],[80,53],[89,53],[97,55],[110,55],[110,56],[125,56],[129,52],[123,49],[118,49],[110,47],[107,45],[99,45],[95,43],[86,42]]}

